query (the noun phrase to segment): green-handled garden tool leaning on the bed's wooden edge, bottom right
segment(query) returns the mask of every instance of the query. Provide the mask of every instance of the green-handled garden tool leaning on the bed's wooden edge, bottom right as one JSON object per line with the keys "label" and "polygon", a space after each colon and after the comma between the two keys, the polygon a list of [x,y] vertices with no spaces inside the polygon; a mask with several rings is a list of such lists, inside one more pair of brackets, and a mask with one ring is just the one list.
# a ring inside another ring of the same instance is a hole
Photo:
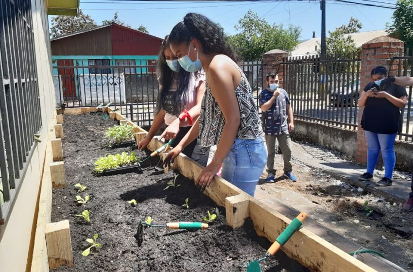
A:
{"label": "green-handled garden tool leaning on the bed's wooden edge, bottom right", "polygon": [[247,272],[260,272],[261,267],[259,262],[274,256],[278,250],[290,239],[293,234],[300,229],[303,221],[306,220],[307,214],[305,212],[301,212],[293,221],[285,228],[285,230],[275,239],[275,242],[271,245],[271,247],[267,250],[267,255],[262,257],[258,260],[254,260],[250,262],[247,266]]}

